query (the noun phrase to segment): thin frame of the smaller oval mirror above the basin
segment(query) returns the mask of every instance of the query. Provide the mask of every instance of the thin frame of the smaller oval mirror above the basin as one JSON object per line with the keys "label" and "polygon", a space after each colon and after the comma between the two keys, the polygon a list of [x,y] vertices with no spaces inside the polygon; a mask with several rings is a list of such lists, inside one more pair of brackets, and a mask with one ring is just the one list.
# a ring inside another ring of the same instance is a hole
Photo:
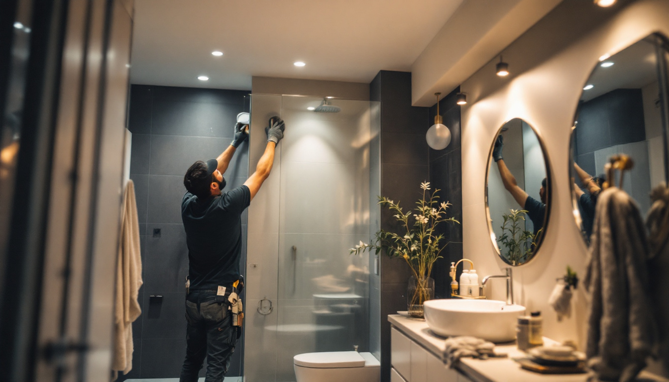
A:
{"label": "thin frame of the smaller oval mirror above the basin", "polygon": [[[539,146],[541,147],[541,153],[544,158],[544,166],[546,168],[546,212],[544,215],[544,223],[543,223],[543,233],[539,236],[539,240],[536,242],[535,250],[533,252],[533,255],[531,258],[529,258],[526,262],[523,262],[522,264],[513,264],[510,262],[507,258],[502,256],[502,251],[500,250],[498,244],[497,244],[497,236],[495,235],[494,229],[492,228],[492,219],[490,217],[490,206],[488,205],[488,177],[490,176],[490,168],[492,167],[490,165],[490,159],[492,158],[492,150],[494,149],[495,146],[495,140],[499,136],[499,134],[502,132],[502,128],[506,126],[508,122],[511,122],[514,119],[519,119],[522,122],[527,123],[528,126],[532,129],[532,131],[535,133],[535,136],[537,136],[537,140],[539,140]],[[552,203],[552,195],[553,195],[553,182],[551,181],[553,177],[553,172],[551,171],[551,163],[548,157],[548,151],[546,149],[546,144],[543,140],[543,137],[541,134],[539,134],[539,131],[533,126],[533,124],[527,122],[527,120],[524,120],[520,117],[514,117],[510,118],[504,123],[502,123],[502,126],[500,126],[497,131],[495,132],[492,142],[490,143],[490,150],[488,151],[488,157],[486,160],[486,187],[485,187],[485,195],[484,195],[484,200],[485,200],[485,205],[486,205],[486,223],[488,224],[488,233],[490,233],[490,242],[492,242],[492,248],[497,252],[497,256],[506,264],[510,266],[523,266],[525,264],[528,264],[532,260],[534,260],[537,257],[537,254],[539,253],[539,250],[541,249],[541,244],[543,244],[545,237],[546,237],[546,232],[548,231],[549,227],[549,221],[551,219],[551,205]]]}

